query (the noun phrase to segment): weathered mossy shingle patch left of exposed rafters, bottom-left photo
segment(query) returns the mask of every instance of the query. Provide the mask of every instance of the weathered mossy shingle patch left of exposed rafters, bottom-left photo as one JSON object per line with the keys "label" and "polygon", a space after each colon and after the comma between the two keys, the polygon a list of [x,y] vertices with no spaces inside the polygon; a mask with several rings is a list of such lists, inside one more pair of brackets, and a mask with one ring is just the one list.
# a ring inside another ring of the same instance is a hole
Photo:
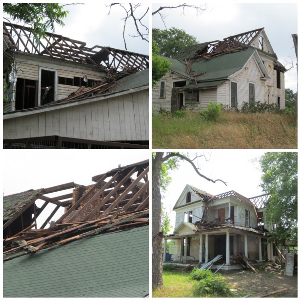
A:
{"label": "weathered mossy shingle patch left of exposed rafters, bottom-left photo", "polygon": [[41,192],[39,190],[28,190],[25,192],[3,197],[3,220],[10,220],[19,211],[31,202],[34,197]]}

